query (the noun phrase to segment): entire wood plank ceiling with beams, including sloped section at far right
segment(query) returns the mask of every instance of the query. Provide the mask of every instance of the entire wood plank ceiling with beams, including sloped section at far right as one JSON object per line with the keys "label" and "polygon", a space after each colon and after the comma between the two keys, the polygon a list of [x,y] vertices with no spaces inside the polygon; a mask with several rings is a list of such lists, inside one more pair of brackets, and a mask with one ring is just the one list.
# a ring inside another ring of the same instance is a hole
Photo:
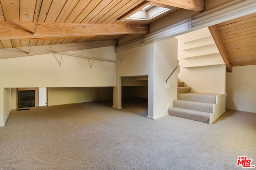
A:
{"label": "entire wood plank ceiling with beams, including sloped section at far right", "polygon": [[[171,10],[148,21],[122,20],[149,3]],[[5,49],[27,55],[32,46],[66,45],[67,51],[71,51],[84,48],[83,43],[92,43],[91,47],[104,46],[102,41],[117,45],[117,39],[147,33],[151,23],[182,9],[202,11],[204,3],[204,0],[0,0],[0,59],[12,57],[2,57],[9,53],[1,51]],[[229,71],[232,66],[256,64],[255,16],[209,27]],[[40,54],[36,51],[34,55]]]}

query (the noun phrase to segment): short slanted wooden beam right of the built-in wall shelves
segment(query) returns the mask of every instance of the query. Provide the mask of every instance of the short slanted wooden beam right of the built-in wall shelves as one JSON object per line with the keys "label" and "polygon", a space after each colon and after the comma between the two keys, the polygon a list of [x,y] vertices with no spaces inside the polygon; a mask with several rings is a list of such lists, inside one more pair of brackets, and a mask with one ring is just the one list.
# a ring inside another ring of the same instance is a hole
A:
{"label": "short slanted wooden beam right of the built-in wall shelves", "polygon": [[208,28],[210,30],[210,33],[212,34],[212,38],[214,39],[214,42],[220,52],[221,57],[227,66],[228,72],[232,72],[232,64],[230,64],[230,59],[228,58],[228,54],[223,45],[222,39],[220,37],[220,33],[218,31],[218,27],[216,25],[212,25]]}

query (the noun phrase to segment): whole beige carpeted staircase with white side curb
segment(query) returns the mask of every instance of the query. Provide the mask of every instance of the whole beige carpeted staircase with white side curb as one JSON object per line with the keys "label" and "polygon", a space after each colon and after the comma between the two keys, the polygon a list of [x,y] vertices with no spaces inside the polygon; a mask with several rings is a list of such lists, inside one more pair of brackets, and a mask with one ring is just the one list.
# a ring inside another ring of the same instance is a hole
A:
{"label": "whole beige carpeted staircase with white side curb", "polygon": [[174,100],[173,107],[168,109],[169,115],[212,124],[223,114],[218,114],[217,118],[214,116],[215,120],[210,121],[210,115],[215,112],[217,97],[221,94],[192,93],[190,91],[191,87],[184,87],[184,82],[178,82],[178,100]]}

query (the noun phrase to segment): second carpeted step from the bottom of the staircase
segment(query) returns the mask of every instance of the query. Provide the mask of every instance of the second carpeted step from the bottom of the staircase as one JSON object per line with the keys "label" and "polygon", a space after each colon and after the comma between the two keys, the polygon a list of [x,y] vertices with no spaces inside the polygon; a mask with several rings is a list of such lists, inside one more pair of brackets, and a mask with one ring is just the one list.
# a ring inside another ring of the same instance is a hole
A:
{"label": "second carpeted step from the bottom of the staircase", "polygon": [[190,109],[195,111],[203,111],[207,113],[213,113],[213,105],[210,103],[190,102],[185,100],[174,100],[173,107],[180,107],[183,109]]}

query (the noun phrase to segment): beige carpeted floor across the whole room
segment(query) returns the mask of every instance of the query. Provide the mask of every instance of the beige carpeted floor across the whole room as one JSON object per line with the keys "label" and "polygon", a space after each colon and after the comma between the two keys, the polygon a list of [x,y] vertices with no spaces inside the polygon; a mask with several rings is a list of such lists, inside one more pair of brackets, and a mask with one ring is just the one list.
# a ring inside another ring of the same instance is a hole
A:
{"label": "beige carpeted floor across the whole room", "polygon": [[228,110],[213,125],[147,119],[147,101],[112,101],[12,111],[0,127],[0,170],[243,169],[256,165],[256,113]]}

